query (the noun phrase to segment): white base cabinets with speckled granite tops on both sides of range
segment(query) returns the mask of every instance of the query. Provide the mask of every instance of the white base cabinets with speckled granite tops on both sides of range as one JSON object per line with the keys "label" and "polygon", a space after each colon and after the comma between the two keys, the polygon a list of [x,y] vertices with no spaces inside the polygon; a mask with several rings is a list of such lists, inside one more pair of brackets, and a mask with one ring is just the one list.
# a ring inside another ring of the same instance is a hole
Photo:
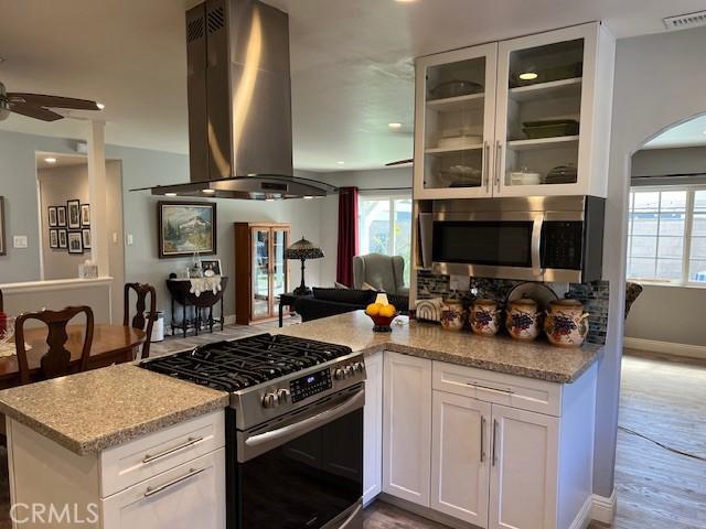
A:
{"label": "white base cabinets with speckled granite tops on both sides of range", "polygon": [[[355,312],[279,331],[365,354],[366,500],[382,494],[456,527],[579,527],[600,346],[398,322],[373,333]],[[223,529],[228,401],[133,365],[0,391],[12,500],[77,504],[86,519],[94,506],[84,527]]]}

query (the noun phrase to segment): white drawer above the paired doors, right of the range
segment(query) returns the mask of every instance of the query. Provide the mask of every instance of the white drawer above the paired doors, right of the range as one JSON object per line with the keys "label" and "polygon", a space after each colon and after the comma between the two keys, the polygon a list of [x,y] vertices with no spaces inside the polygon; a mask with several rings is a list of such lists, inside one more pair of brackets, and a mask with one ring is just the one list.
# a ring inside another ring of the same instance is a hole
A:
{"label": "white drawer above the paired doors, right of the range", "polygon": [[545,380],[435,361],[434,389],[473,397],[485,402],[559,417],[561,386]]}

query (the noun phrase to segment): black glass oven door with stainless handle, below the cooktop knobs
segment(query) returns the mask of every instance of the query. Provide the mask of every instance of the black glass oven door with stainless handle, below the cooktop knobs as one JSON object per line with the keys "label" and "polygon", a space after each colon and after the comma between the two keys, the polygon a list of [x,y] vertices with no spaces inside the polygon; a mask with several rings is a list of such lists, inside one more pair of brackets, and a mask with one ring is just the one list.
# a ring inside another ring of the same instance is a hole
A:
{"label": "black glass oven door with stainless handle, below the cooktop knobs", "polygon": [[364,385],[237,432],[237,529],[362,528]]}

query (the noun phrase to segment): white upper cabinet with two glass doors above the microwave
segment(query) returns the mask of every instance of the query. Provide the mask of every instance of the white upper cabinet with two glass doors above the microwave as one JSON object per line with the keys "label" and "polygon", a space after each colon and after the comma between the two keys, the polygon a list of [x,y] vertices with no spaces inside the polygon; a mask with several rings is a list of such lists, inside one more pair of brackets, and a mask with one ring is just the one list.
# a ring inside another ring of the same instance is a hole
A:
{"label": "white upper cabinet with two glass doors above the microwave", "polygon": [[415,198],[606,196],[613,66],[598,22],[419,58]]}

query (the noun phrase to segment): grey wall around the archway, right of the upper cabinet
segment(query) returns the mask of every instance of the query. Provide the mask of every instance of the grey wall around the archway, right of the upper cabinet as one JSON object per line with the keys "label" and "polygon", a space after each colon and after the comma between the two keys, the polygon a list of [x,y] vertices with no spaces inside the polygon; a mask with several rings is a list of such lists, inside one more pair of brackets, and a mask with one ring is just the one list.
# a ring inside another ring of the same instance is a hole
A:
{"label": "grey wall around the archway, right of the upper cabinet", "polygon": [[613,489],[623,344],[630,159],[660,131],[706,112],[706,29],[618,42],[603,276],[611,283],[608,343],[599,366],[593,492]]}

